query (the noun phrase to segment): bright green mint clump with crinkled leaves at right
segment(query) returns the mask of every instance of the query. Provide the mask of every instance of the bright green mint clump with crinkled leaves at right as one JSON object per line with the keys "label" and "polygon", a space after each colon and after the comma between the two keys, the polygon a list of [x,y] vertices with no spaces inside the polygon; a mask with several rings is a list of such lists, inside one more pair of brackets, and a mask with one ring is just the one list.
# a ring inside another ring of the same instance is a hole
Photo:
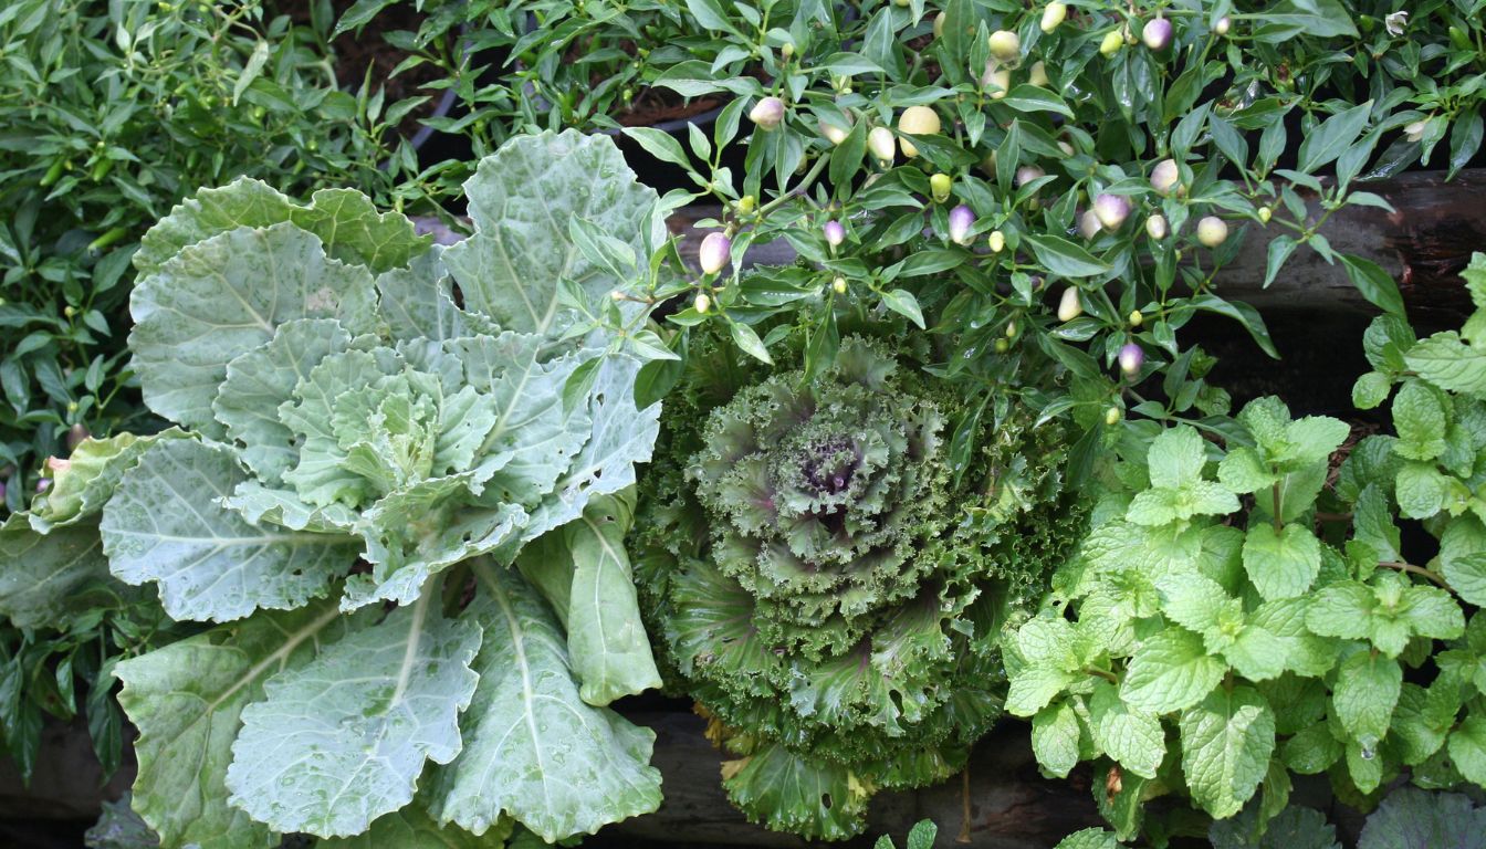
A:
{"label": "bright green mint clump with crinkled leaves at right", "polygon": [[[1486,256],[1467,284],[1486,303]],[[1327,486],[1348,425],[1291,421],[1276,398],[1244,407],[1226,452],[1159,431],[1144,462],[1109,470],[1080,555],[1010,642],[1006,709],[1033,720],[1049,773],[1100,760],[1122,839],[1169,792],[1214,819],[1257,794],[1262,830],[1290,773],[1326,773],[1364,806],[1403,770],[1486,785],[1486,394],[1453,332],[1415,342],[1382,317],[1366,348],[1378,372],[1360,404],[1392,394],[1397,436],[1363,439]],[[1433,537],[1424,561],[1400,519]]]}

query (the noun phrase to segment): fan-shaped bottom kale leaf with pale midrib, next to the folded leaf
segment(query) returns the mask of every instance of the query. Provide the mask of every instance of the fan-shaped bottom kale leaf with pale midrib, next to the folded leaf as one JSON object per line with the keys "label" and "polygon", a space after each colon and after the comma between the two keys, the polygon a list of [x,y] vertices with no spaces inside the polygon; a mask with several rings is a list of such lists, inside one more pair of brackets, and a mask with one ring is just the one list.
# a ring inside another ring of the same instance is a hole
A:
{"label": "fan-shaped bottom kale leaf with pale midrib, next to the folded leaf", "polygon": [[435,773],[432,813],[483,834],[504,816],[547,842],[591,834],[660,806],[655,735],[583,702],[562,630],[514,571],[474,566],[462,617],[484,626],[465,749]]}

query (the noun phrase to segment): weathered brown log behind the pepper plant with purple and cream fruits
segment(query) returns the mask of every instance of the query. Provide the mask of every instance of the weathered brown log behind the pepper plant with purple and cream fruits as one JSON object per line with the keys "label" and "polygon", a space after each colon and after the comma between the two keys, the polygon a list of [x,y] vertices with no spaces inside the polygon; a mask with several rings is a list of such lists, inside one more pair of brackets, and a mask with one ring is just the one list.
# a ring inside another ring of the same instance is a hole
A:
{"label": "weathered brown log behind the pepper plant with purple and cream fruits", "polygon": [[[1406,172],[1388,180],[1360,183],[1357,189],[1386,199],[1395,213],[1376,207],[1343,207],[1321,226],[1320,233],[1337,253],[1363,256],[1380,265],[1403,293],[1415,320],[1424,324],[1449,324],[1470,308],[1459,272],[1471,251],[1486,250],[1486,170],[1461,171],[1446,183],[1438,171]],[[1312,192],[1302,192],[1312,220],[1323,210]],[[682,238],[682,256],[695,262],[701,236],[694,223],[716,217],[718,207],[688,207],[672,217],[672,232]],[[1238,257],[1219,274],[1219,291],[1232,300],[1259,309],[1327,309],[1358,314],[1378,312],[1357,291],[1346,269],[1327,265],[1314,250],[1302,247],[1284,271],[1265,288],[1268,245],[1282,230],[1271,223],[1260,230],[1248,226]],[[744,265],[783,265],[794,262],[794,250],[783,241],[753,247]]]}

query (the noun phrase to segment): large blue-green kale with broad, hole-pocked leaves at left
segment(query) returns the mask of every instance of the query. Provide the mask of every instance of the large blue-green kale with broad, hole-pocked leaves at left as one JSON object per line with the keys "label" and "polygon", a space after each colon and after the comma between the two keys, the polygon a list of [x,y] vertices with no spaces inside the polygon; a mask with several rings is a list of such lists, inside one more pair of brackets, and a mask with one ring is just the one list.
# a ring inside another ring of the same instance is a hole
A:
{"label": "large blue-green kale with broad, hole-pocked leaves at left", "polygon": [[627,354],[645,317],[609,294],[664,236],[655,195],[577,132],[465,190],[476,233],[444,251],[355,192],[177,207],[129,342],[181,427],[83,443],[6,525],[43,555],[9,577],[62,575],[3,596],[18,622],[122,581],[220,623],[116,668],[166,848],[490,846],[660,804],[654,735],[606,708],[660,684],[609,553],[658,427]]}

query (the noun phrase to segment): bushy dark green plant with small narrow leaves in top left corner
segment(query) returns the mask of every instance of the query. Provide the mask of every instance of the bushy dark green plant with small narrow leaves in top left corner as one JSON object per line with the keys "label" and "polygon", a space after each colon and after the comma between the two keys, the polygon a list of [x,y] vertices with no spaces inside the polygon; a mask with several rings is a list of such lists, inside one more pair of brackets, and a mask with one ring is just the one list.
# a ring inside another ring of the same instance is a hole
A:
{"label": "bushy dark green plant with small narrow leaves in top left corner", "polygon": [[422,195],[397,189],[416,162],[391,129],[413,104],[340,91],[328,48],[259,0],[18,0],[0,10],[0,51],[9,513],[49,477],[43,458],[88,433],[153,427],[125,351],[129,259],[187,192],[247,174],[291,193]]}

